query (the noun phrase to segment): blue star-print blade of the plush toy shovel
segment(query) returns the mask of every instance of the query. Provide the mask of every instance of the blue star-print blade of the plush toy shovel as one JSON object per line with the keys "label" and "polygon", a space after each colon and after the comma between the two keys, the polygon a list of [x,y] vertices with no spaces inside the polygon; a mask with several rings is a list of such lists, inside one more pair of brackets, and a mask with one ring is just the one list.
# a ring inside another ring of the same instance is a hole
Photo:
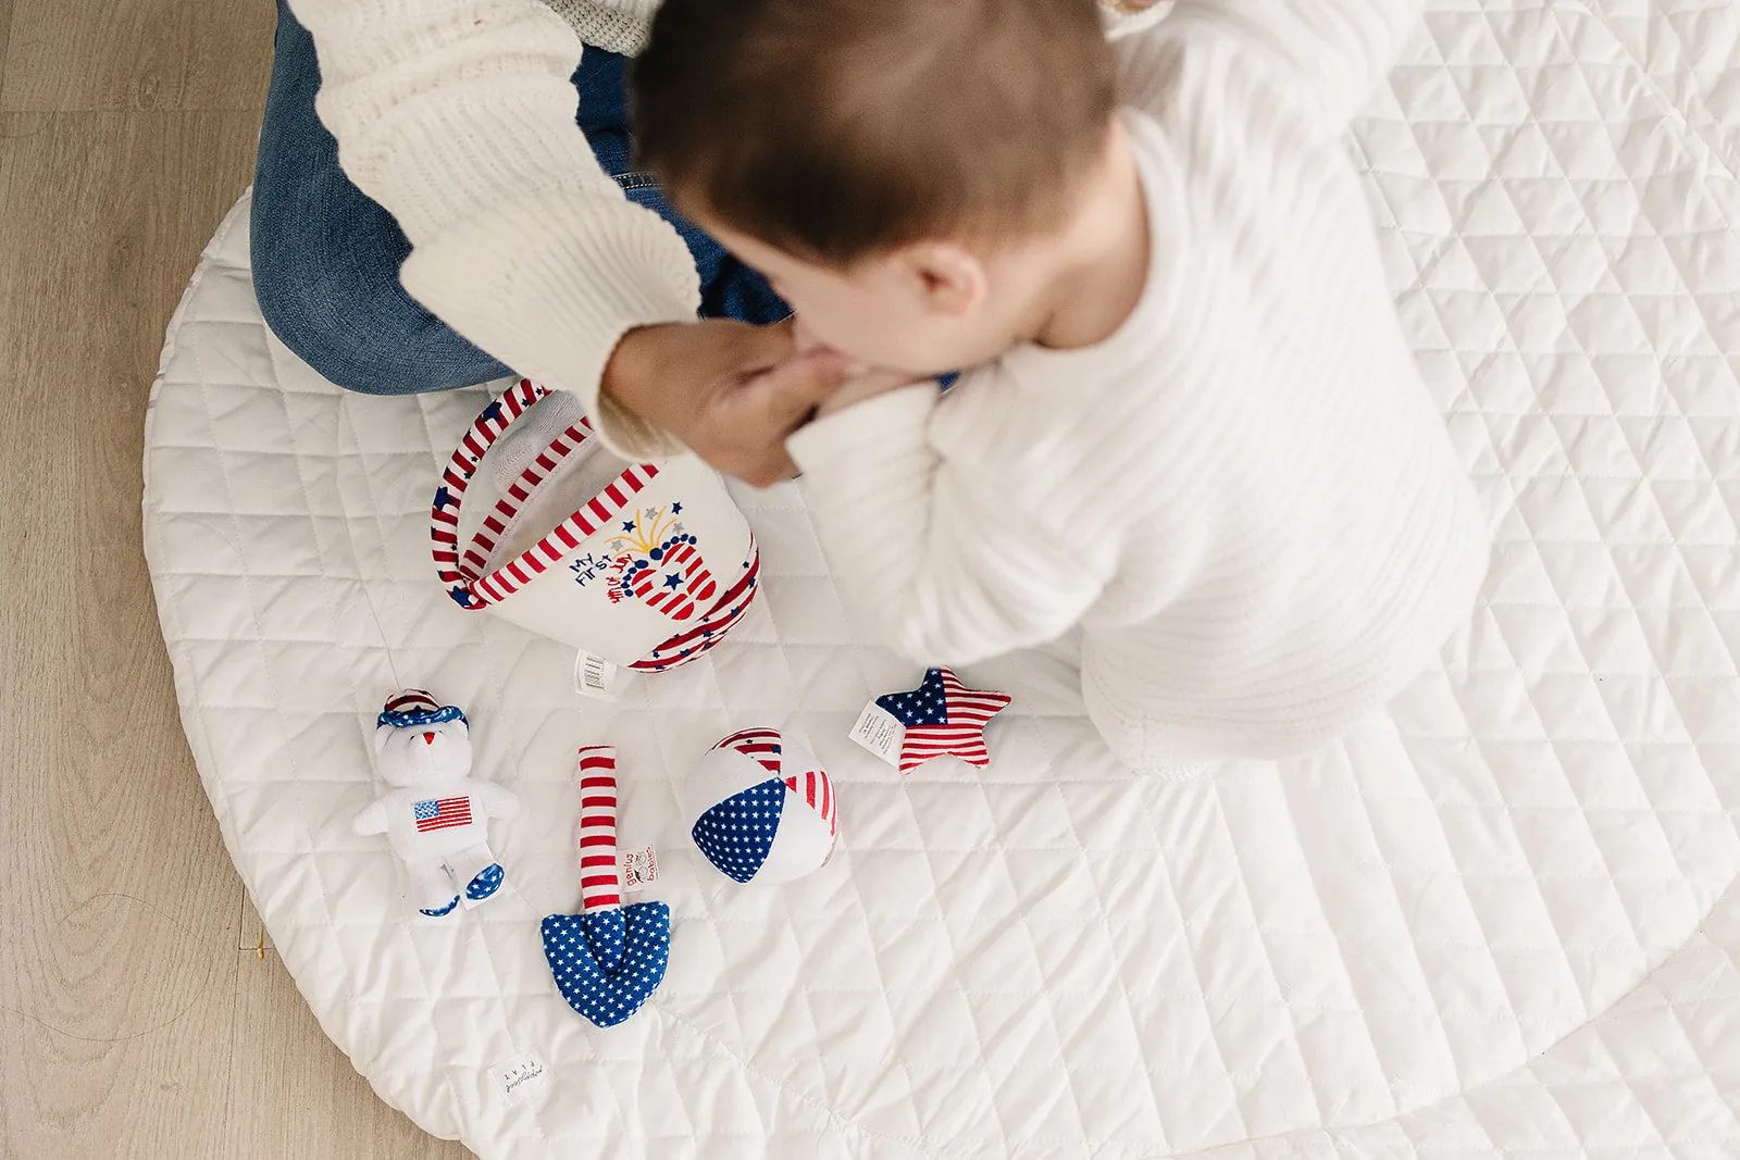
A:
{"label": "blue star-print blade of the plush toy shovel", "polygon": [[543,920],[545,958],[567,1005],[600,1028],[640,1010],[665,981],[670,906],[593,910]]}

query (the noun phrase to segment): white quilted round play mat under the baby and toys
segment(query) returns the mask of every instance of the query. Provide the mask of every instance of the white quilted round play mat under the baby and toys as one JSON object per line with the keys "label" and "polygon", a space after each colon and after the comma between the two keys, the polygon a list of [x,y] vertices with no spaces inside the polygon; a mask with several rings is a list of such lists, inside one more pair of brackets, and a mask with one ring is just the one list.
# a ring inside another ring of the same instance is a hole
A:
{"label": "white quilted round play mat under the baby and toys", "polygon": [[[146,550],[193,755],[325,1033],[484,1157],[1740,1157],[1740,5],[1437,0],[1350,143],[1496,532],[1474,623],[1314,760],[1115,769],[1056,656],[992,767],[847,741],[919,670],[865,643],[797,489],[740,492],[762,598],[701,661],[572,692],[571,654],[433,581],[430,494],[485,402],[345,395],[261,325],[247,212],[169,330]],[[499,897],[411,915],[379,838],[383,697],[466,710]],[[840,849],[703,863],[724,734],[806,737]],[[552,984],[576,744],[672,910],[611,1030]]]}

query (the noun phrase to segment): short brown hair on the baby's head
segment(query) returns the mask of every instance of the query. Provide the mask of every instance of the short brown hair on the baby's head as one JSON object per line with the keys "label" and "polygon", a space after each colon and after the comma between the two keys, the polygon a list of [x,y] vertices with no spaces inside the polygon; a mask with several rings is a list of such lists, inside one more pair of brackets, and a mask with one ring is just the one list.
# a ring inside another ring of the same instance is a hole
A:
{"label": "short brown hair on the baby's head", "polygon": [[665,0],[633,66],[679,205],[833,264],[1054,226],[1115,104],[1096,0]]}

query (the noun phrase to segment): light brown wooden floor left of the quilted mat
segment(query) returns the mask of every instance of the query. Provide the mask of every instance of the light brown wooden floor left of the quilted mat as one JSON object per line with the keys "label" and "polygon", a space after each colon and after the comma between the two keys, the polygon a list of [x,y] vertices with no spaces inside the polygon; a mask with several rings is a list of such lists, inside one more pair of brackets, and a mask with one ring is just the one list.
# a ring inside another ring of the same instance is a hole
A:
{"label": "light brown wooden floor left of the quilted mat", "polygon": [[465,1157],[325,1040],[230,868],[139,548],[164,323],[270,0],[0,0],[0,1157]]}

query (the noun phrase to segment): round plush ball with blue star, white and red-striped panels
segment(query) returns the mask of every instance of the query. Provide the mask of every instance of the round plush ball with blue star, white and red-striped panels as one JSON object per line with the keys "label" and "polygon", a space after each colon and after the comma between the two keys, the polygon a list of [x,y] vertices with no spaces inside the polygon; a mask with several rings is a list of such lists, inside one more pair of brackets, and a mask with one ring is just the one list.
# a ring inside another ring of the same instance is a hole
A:
{"label": "round plush ball with blue star, white and red-striped panels", "polygon": [[773,729],[731,734],[701,757],[686,793],[689,837],[738,882],[790,882],[823,866],[839,837],[821,763]]}

